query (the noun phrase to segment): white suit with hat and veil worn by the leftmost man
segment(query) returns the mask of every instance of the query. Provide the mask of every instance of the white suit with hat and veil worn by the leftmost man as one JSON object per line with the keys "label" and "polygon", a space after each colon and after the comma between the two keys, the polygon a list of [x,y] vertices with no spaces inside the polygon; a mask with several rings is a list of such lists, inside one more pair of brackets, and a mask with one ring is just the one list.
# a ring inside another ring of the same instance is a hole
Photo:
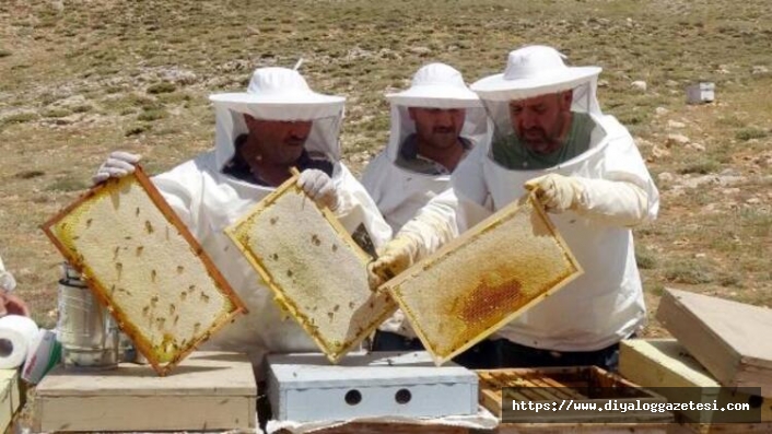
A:
{"label": "white suit with hat and veil worn by the leftmost man", "polygon": [[234,142],[247,133],[244,114],[269,120],[313,120],[305,150],[311,159],[327,161],[332,167],[338,193],[335,214],[349,232],[363,224],[379,246],[391,231],[365,189],[340,162],[338,133],[344,98],[313,92],[294,70],[262,68],[255,71],[247,92],[215,94],[210,99],[217,116],[214,151],[153,177],[164,199],[249,309],[203,348],[247,352],[256,366],[267,352],[318,351],[294,320],[282,318],[272,292],[223,233],[274,188],[223,171],[234,157]]}

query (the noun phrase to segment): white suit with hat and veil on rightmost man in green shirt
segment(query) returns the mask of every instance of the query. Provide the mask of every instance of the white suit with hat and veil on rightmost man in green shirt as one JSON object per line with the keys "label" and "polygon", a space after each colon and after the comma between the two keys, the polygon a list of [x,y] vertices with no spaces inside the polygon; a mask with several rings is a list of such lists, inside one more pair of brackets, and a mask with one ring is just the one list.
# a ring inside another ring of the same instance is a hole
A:
{"label": "white suit with hat and veil on rightmost man in green shirt", "polygon": [[[536,349],[587,352],[635,332],[646,310],[630,227],[654,219],[659,199],[628,130],[599,109],[595,95],[599,72],[600,68],[566,67],[557,50],[531,46],[512,51],[504,73],[472,84],[493,119],[493,140],[472,151],[454,172],[453,188],[407,223],[382,259],[401,255],[417,260],[525,195],[526,181],[562,175],[559,178],[570,180],[563,183],[572,193],[570,207],[550,216],[585,273],[499,335]],[[499,164],[492,143],[513,133],[510,102],[568,90],[573,90],[571,110],[587,114],[595,122],[588,149],[541,169]]]}

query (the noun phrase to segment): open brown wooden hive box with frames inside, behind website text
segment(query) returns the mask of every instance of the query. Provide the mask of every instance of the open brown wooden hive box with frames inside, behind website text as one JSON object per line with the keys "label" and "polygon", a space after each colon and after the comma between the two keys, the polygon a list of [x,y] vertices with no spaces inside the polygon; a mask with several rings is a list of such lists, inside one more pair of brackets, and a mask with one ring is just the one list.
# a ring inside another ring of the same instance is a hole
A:
{"label": "open brown wooden hive box with frames inside, behind website text", "polygon": [[[518,423],[666,423],[669,412],[650,410],[570,410],[574,404],[603,407],[607,402],[665,403],[667,400],[619,375],[597,366],[504,368],[478,371],[480,402],[502,418],[503,424]],[[512,401],[555,403],[554,411],[515,411]],[[563,408],[560,408],[560,406]],[[502,407],[504,406],[504,407]]]}

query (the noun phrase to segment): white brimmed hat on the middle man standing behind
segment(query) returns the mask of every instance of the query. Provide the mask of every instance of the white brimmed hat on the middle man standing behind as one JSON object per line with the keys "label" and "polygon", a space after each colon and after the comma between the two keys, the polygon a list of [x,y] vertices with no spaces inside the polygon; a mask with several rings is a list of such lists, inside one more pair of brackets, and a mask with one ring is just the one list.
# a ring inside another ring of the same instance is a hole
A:
{"label": "white brimmed hat on the middle man standing behind", "polygon": [[477,94],[464,83],[461,73],[445,63],[430,63],[416,72],[409,89],[386,94],[391,104],[409,107],[482,107]]}

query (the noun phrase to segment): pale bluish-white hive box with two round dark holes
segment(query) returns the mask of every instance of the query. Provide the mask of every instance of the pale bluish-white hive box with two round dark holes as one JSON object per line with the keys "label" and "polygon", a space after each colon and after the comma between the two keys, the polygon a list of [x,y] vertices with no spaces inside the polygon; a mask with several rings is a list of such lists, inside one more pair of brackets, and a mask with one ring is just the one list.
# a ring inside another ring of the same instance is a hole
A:
{"label": "pale bluish-white hive box with two round dark holes", "polygon": [[477,374],[437,367],[424,351],[350,354],[330,365],[321,354],[268,356],[273,419],[297,422],[400,415],[476,414]]}

